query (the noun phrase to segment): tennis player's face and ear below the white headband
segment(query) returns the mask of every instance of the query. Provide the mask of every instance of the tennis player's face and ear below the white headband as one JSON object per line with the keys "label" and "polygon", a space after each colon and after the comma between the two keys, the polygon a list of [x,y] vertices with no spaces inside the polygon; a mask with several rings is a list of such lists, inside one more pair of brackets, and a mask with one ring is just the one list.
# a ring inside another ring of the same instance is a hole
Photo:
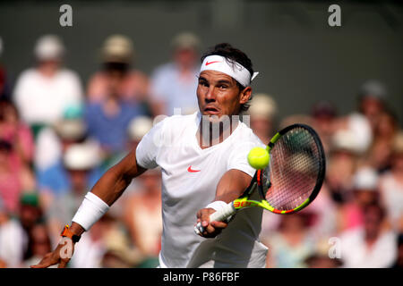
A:
{"label": "tennis player's face and ear below the white headband", "polygon": [[252,88],[240,90],[236,80],[219,71],[202,71],[197,86],[201,115],[218,116],[239,114],[241,105],[252,94]]}

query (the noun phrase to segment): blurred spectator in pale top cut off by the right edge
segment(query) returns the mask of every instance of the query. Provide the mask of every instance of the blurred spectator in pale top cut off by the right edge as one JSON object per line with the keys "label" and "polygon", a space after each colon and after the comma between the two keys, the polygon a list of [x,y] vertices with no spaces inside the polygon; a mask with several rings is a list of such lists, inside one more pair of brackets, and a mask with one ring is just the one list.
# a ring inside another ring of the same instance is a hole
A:
{"label": "blurred spectator in pale top cut off by the right edge", "polygon": [[391,169],[382,174],[382,202],[388,210],[390,223],[396,231],[403,231],[403,132],[394,139]]}

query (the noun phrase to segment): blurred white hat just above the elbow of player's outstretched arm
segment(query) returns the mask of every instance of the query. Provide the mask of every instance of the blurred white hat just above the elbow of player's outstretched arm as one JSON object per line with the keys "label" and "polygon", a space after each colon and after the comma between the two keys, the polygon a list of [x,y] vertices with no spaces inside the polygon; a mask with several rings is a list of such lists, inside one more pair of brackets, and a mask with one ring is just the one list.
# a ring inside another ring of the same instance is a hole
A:
{"label": "blurred white hat just above the elbow of player's outstretched arm", "polygon": [[64,165],[70,170],[90,170],[99,164],[99,155],[95,142],[73,144],[64,153]]}

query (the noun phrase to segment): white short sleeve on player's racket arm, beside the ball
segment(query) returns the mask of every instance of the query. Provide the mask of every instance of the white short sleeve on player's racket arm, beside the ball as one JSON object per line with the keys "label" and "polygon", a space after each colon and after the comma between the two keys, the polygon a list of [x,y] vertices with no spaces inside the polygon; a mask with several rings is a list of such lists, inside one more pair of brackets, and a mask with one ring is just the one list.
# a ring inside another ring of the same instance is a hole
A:
{"label": "white short sleeve on player's racket arm, beside the ball", "polygon": [[229,154],[227,170],[236,169],[249,174],[253,177],[256,171],[248,163],[248,154],[253,147],[264,147],[260,141],[244,141],[234,147]]}

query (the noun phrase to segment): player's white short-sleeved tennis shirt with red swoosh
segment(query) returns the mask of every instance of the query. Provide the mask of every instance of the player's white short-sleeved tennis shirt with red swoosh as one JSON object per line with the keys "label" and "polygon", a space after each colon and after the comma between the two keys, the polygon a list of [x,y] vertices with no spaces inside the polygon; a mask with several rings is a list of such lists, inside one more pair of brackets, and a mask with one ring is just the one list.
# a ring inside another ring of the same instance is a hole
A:
{"label": "player's white short-sleeved tennis shirt with red swoosh", "polygon": [[241,170],[253,177],[247,163],[250,149],[263,146],[239,122],[223,142],[201,149],[196,132],[199,112],[174,115],[156,124],[136,149],[137,164],[162,170],[163,233],[161,267],[264,267],[267,248],[259,242],[262,208],[241,210],[215,239],[193,231],[196,213],[215,198],[225,172]]}

